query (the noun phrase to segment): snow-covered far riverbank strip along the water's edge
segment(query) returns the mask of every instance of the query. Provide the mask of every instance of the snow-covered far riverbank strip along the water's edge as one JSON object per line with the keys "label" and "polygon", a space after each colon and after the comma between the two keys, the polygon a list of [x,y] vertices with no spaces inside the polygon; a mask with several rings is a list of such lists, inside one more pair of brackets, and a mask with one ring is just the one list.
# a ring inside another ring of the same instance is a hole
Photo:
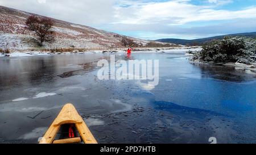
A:
{"label": "snow-covered far riverbank strip along the water's edge", "polygon": [[[199,51],[201,47],[177,47],[177,48],[134,48],[134,53],[174,53],[174,52],[188,52],[188,51]],[[26,57],[26,56],[48,56],[48,55],[72,55],[72,54],[85,54],[85,53],[124,53],[126,48],[113,48],[113,49],[102,49],[102,50],[84,50],[79,52],[77,50],[72,52],[48,52],[48,51],[20,51],[13,50],[11,53],[2,54],[0,57]]]}

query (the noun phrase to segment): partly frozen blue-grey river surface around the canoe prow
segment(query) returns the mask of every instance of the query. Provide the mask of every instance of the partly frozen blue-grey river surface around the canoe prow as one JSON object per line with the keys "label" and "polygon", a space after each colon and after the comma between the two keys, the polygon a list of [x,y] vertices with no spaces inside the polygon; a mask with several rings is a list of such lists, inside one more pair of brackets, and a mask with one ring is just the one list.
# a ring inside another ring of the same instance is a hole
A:
{"label": "partly frozen blue-grey river surface around the canoe prow", "polygon": [[98,143],[256,143],[255,74],[189,64],[184,52],[133,53],[159,60],[159,85],[148,88],[98,79],[97,62],[109,57],[0,58],[0,143],[38,143],[65,103]]}

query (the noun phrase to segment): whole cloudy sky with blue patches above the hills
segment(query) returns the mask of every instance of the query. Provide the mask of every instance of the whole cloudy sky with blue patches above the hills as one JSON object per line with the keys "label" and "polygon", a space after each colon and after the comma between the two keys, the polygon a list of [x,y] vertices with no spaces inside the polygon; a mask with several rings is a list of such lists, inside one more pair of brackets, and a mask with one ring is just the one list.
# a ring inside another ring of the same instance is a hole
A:
{"label": "whole cloudy sky with blue patches above the hills", "polygon": [[141,39],[256,31],[256,0],[0,0],[0,5]]}

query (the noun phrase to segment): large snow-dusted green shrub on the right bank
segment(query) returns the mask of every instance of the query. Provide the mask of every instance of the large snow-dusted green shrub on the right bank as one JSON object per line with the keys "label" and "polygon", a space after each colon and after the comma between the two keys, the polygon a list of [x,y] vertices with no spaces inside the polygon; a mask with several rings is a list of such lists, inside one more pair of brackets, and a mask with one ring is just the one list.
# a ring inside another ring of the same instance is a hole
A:
{"label": "large snow-dusted green shrub on the right bank", "polygon": [[224,37],[204,45],[203,49],[193,55],[193,60],[204,62],[240,62],[251,64],[255,60],[256,40],[248,37]]}

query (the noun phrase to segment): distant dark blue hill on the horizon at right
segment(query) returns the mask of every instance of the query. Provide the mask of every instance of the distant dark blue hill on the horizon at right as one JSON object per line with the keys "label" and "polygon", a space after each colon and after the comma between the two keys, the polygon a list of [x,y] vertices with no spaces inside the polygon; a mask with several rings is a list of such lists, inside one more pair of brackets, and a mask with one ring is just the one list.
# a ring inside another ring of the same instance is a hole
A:
{"label": "distant dark blue hill on the horizon at right", "polygon": [[193,39],[193,40],[158,39],[158,40],[155,40],[155,41],[159,41],[159,42],[163,42],[163,43],[180,44],[180,45],[203,45],[203,44],[209,43],[210,41],[223,39],[225,36],[246,36],[246,37],[256,38],[256,32],[236,33],[236,34],[231,34],[231,35],[214,36],[214,37],[207,37],[207,38],[203,38],[203,39]]}

